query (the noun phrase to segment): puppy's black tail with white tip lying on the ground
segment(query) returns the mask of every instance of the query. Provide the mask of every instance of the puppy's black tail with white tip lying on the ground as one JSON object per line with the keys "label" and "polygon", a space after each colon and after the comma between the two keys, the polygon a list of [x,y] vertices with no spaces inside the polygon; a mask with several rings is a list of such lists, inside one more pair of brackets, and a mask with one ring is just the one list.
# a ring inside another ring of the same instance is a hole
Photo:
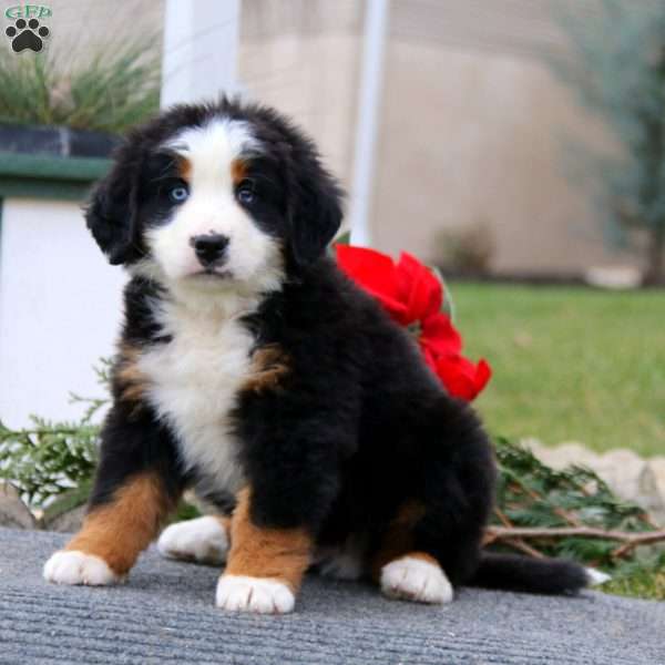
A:
{"label": "puppy's black tail with white tip lying on the ground", "polygon": [[572,561],[483,552],[469,586],[542,594],[574,594],[610,575]]}

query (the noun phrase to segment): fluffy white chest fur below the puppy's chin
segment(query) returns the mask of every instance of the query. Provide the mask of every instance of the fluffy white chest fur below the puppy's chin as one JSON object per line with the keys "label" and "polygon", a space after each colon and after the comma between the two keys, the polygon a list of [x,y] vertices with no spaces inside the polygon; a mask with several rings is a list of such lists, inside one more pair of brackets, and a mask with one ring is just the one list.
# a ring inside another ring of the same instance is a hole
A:
{"label": "fluffy white chest fur below the puppy's chin", "polygon": [[217,309],[163,303],[156,317],[172,340],[140,359],[149,399],[177,436],[185,468],[235,492],[243,478],[231,412],[249,374],[253,337],[237,316]]}

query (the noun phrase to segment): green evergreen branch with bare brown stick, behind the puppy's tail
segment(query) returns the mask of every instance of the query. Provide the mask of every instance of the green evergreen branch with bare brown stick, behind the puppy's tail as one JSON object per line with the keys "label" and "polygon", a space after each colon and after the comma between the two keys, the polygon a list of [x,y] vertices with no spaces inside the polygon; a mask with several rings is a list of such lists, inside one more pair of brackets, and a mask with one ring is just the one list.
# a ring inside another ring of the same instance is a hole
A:
{"label": "green evergreen branch with bare brown stick, behind the puppy's tail", "polygon": [[[644,510],[616,498],[592,470],[555,471],[526,447],[499,439],[497,510],[485,546],[531,556],[564,556],[622,576],[628,566],[657,571],[665,542]],[[648,545],[648,546],[647,546]]]}

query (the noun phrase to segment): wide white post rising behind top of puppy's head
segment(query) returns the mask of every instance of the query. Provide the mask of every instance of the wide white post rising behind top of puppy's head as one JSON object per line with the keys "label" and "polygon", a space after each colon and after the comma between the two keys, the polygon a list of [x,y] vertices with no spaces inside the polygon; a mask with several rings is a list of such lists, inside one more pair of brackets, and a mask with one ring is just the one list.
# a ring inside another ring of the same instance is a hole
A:
{"label": "wide white post rising behind top of puppy's head", "polygon": [[166,0],[162,108],[237,91],[241,0]]}

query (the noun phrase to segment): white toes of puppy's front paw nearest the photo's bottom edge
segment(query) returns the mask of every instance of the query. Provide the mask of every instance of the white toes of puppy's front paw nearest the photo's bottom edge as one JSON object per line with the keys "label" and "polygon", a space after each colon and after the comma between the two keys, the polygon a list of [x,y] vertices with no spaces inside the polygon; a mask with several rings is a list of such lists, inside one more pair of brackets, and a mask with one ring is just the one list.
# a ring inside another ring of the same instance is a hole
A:
{"label": "white toes of puppy's front paw nearest the photo's bottom edge", "polygon": [[293,591],[278,580],[222,575],[217,582],[215,604],[231,612],[286,614],[293,612],[296,597]]}

